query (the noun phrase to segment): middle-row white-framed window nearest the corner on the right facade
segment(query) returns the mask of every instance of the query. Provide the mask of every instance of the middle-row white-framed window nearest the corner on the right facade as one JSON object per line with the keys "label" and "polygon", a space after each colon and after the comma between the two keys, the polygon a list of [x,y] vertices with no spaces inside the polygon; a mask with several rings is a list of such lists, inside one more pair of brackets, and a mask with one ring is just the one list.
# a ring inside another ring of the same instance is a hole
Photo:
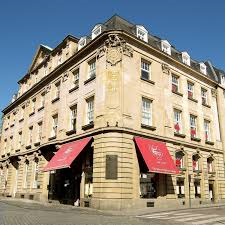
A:
{"label": "middle-row white-framed window nearest the corner on the right facade", "polygon": [[152,126],[152,100],[142,98],[142,121],[143,125]]}

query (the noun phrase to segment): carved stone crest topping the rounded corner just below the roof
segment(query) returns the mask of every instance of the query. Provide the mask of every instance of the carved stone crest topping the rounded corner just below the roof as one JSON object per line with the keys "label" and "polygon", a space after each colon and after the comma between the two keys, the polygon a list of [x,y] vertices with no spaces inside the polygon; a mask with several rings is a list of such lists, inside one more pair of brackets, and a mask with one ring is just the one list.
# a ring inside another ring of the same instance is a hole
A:
{"label": "carved stone crest topping the rounded corner just below the roof", "polygon": [[106,52],[106,61],[115,66],[122,60],[122,54],[133,57],[133,49],[128,46],[125,40],[117,34],[110,34],[104,45],[97,51],[97,58],[100,58]]}

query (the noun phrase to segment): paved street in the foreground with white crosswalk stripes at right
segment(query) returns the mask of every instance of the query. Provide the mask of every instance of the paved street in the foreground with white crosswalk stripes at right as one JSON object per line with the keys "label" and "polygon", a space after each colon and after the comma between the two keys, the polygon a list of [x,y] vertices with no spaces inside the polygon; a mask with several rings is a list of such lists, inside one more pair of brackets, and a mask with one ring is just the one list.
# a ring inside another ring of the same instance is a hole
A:
{"label": "paved street in the foreground with white crosswalk stripes at right", "polygon": [[0,201],[0,225],[221,225],[225,208],[187,209],[145,215],[111,215],[86,208]]}

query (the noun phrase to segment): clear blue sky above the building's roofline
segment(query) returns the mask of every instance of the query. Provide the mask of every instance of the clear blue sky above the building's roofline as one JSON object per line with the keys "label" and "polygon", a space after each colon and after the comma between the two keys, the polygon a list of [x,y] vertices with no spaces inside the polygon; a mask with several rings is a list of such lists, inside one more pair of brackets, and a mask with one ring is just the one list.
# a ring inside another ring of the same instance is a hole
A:
{"label": "clear blue sky above the building's roofline", "polygon": [[0,110],[17,92],[39,44],[55,47],[66,35],[89,34],[113,14],[144,25],[196,60],[225,70],[225,1],[2,1],[0,6]]}

